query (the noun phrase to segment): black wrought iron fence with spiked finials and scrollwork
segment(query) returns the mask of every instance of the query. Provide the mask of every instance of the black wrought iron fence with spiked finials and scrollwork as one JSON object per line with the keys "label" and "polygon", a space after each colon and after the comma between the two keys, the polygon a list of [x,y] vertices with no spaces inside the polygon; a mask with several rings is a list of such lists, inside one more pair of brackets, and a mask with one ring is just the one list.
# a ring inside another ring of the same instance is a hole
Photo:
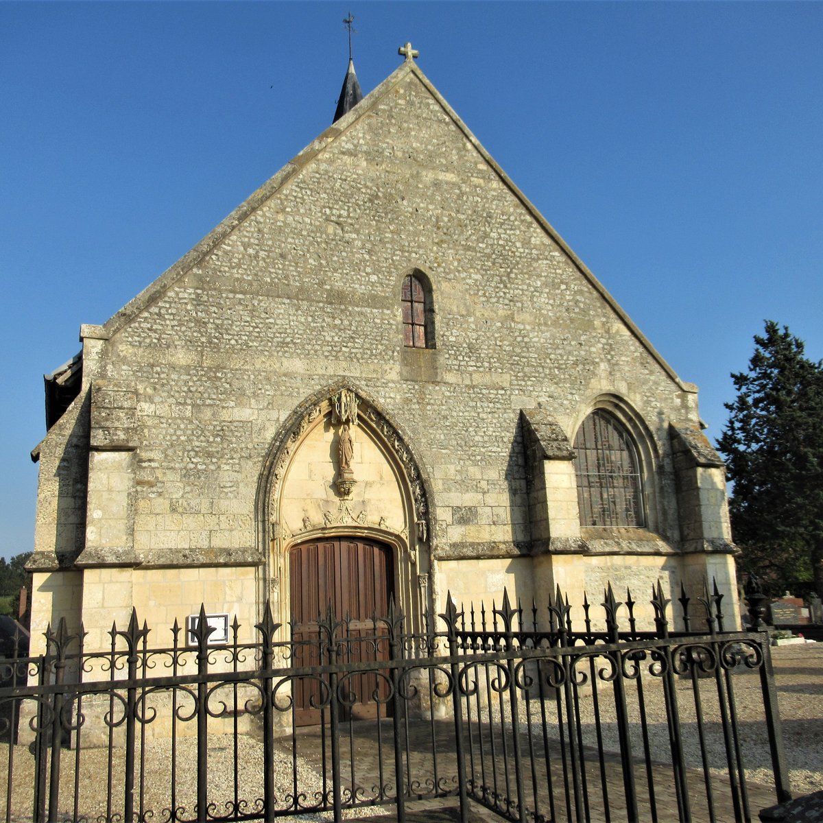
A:
{"label": "black wrought iron fence with spiked finials and scrollwork", "polygon": [[[219,645],[202,609],[163,649],[133,614],[105,651],[61,621],[44,655],[0,661],[5,819],[339,821],[386,807],[403,821],[441,798],[464,821],[470,801],[537,823],[749,821],[790,797],[768,638],[724,630],[716,587],[697,601],[700,632],[686,593],[685,630],[669,630],[660,584],[651,631],[611,586],[574,623],[559,590],[528,608],[449,597],[417,633],[393,604],[370,630],[329,610],[309,631],[267,606],[254,642],[235,619]],[[769,788],[746,769],[752,724]]]}

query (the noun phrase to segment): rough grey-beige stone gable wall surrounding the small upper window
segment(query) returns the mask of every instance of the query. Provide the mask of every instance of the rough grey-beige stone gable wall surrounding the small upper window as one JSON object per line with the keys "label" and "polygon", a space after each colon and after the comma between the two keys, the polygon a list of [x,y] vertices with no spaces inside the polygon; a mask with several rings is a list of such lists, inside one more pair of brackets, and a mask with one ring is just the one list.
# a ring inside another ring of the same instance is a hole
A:
{"label": "rough grey-beige stone gable wall surrounding the small upper window", "polygon": [[[137,556],[254,546],[266,449],[342,376],[414,439],[438,547],[526,551],[518,411],[547,407],[571,436],[605,392],[653,431],[671,507],[665,422],[694,421],[693,395],[413,74],[345,123],[106,344],[99,376],[137,386]],[[433,285],[437,347],[416,353],[431,380],[407,379],[399,286],[412,267]]]}

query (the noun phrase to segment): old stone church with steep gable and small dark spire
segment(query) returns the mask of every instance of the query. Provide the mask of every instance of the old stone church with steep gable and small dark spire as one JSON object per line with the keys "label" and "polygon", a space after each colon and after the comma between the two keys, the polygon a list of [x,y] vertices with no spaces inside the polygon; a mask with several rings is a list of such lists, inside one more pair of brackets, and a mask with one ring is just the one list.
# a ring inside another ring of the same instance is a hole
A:
{"label": "old stone church with steep gable and small dark spire", "polygon": [[[670,597],[739,625],[723,462],[682,381],[421,72],[362,96],[46,376],[32,653],[391,597]],[[191,622],[189,622],[191,625]]]}

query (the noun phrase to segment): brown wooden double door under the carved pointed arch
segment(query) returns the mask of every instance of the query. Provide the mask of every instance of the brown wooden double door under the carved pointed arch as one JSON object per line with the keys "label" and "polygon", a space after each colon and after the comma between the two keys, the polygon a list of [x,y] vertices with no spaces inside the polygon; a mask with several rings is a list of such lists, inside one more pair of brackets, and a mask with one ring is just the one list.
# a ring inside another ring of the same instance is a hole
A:
{"label": "brown wooden double door under the carved pointed arch", "polygon": [[[289,555],[291,619],[295,626],[294,664],[297,667],[319,666],[323,643],[318,617],[325,619],[332,607],[335,619],[346,624],[337,629],[335,646],[338,663],[373,662],[388,659],[388,637],[384,624],[376,626],[374,615],[388,614],[388,601],[394,591],[394,555],[391,546],[361,537],[333,537],[307,541],[294,546]],[[376,637],[375,637],[376,634]],[[323,677],[328,682],[328,676]],[[320,723],[317,708],[325,696],[319,680],[305,677],[295,680],[295,722],[298,725]],[[385,716],[388,686],[376,674],[344,677],[338,689],[340,716],[372,718]],[[328,711],[325,713],[328,719]]]}

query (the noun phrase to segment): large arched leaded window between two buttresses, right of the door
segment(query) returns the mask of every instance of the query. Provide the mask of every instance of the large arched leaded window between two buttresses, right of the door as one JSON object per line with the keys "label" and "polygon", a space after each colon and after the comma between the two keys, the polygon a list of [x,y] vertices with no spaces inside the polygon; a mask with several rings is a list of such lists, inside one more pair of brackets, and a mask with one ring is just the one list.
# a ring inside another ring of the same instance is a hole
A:
{"label": "large arched leaded window between two buttresses, right of the door", "polygon": [[574,438],[581,526],[646,524],[635,442],[614,415],[596,409]]}

